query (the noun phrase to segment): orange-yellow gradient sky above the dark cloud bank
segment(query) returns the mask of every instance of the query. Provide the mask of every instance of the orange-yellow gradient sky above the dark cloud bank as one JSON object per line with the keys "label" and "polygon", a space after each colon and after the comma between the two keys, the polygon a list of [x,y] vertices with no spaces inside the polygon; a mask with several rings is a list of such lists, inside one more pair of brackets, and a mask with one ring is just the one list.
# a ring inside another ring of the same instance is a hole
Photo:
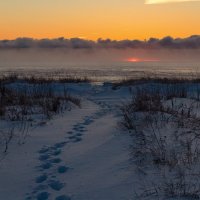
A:
{"label": "orange-yellow gradient sky above the dark cloud bank", "polygon": [[148,39],[200,34],[200,1],[156,1],[1,0],[0,39]]}

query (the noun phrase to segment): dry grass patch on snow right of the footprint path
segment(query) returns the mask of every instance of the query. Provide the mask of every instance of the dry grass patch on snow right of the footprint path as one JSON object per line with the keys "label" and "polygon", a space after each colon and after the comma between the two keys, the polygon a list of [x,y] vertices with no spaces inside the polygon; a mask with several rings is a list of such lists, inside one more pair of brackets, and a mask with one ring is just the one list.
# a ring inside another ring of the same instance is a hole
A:
{"label": "dry grass patch on snow right of the footprint path", "polygon": [[121,125],[134,138],[135,165],[151,179],[157,174],[154,187],[150,183],[139,197],[199,199],[200,102],[184,84],[164,85],[164,89],[138,86],[121,108]]}

